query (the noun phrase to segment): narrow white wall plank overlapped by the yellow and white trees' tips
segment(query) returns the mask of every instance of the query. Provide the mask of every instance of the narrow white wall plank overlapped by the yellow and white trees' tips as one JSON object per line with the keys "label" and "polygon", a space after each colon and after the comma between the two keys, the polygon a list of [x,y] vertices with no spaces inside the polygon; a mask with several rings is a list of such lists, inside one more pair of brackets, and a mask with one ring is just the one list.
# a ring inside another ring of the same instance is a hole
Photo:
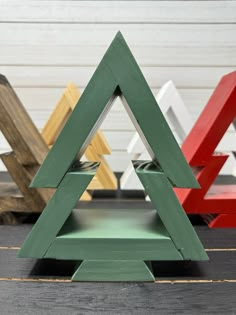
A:
{"label": "narrow white wall plank overlapped by the yellow and white trees' tips", "polygon": [[[61,87],[72,80],[85,87],[93,75],[95,66],[0,66],[13,86],[17,87]],[[232,67],[141,67],[151,88],[158,88],[172,79],[178,88],[214,88],[220,78],[235,70]]]}

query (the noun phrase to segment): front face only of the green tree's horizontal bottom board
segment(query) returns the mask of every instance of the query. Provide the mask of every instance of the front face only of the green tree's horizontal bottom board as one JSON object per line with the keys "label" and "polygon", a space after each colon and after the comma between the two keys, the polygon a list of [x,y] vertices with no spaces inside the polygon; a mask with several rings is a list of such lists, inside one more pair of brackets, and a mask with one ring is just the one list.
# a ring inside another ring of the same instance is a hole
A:
{"label": "front face only of the green tree's horizontal bottom board", "polygon": [[45,258],[183,260],[171,240],[56,239]]}

